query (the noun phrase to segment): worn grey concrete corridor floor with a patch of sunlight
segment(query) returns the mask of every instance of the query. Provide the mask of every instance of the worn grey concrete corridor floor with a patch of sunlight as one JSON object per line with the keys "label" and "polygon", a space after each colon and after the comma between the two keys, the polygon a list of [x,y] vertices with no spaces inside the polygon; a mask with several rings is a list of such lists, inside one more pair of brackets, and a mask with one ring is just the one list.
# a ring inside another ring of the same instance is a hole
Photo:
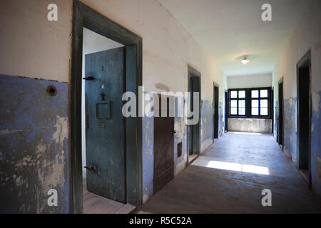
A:
{"label": "worn grey concrete corridor floor with a patch of sunlight", "polygon": [[[263,207],[263,189],[272,207]],[[272,135],[226,133],[138,213],[321,213],[320,198]]]}

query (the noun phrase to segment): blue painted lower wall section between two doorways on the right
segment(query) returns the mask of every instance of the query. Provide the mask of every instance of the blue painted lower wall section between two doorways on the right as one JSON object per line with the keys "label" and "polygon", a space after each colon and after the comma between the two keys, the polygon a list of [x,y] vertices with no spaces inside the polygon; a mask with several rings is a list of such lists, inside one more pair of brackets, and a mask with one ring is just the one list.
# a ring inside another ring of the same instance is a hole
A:
{"label": "blue painted lower wall section between two doorways on the right", "polygon": [[284,150],[293,162],[297,159],[297,98],[284,100]]}

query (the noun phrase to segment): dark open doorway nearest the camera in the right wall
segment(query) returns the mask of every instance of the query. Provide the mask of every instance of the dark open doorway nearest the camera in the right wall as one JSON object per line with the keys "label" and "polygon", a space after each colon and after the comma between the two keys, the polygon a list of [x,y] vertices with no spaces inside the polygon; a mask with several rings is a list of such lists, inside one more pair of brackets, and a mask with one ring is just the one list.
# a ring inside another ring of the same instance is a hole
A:
{"label": "dark open doorway nearest the camera in the right wall", "polygon": [[297,167],[311,187],[310,51],[297,63]]}

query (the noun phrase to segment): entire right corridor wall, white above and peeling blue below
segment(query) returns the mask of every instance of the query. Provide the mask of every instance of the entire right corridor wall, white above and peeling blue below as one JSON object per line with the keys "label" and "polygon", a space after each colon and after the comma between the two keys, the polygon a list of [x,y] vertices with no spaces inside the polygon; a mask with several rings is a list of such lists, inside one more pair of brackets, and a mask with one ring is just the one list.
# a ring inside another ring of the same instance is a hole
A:
{"label": "entire right corridor wall, white above and peeling blue below", "polygon": [[[274,86],[275,115],[278,108],[278,84],[283,77],[284,90],[284,141],[285,152],[295,161],[296,145],[296,97],[297,68],[296,64],[310,50],[311,52],[311,95],[312,95],[312,129],[311,129],[311,172],[312,189],[321,196],[321,179],[318,157],[320,158],[320,90],[321,90],[321,1],[312,0],[305,15],[300,19],[290,41],[282,51],[272,73]],[[275,116],[276,117],[276,116]],[[276,120],[276,118],[275,118]],[[276,130],[276,129],[275,129]],[[275,134],[276,136],[276,134]]]}

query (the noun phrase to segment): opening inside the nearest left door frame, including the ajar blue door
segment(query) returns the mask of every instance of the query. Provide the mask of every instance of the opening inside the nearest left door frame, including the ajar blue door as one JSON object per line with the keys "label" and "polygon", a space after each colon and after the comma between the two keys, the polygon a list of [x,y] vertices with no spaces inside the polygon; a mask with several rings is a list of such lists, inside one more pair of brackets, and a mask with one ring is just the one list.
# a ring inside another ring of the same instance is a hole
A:
{"label": "opening inside the nearest left door frame, including the ajar blue door", "polygon": [[124,51],[121,43],[83,28],[81,113],[85,214],[116,213],[129,208],[126,206],[125,121],[121,115]]}

